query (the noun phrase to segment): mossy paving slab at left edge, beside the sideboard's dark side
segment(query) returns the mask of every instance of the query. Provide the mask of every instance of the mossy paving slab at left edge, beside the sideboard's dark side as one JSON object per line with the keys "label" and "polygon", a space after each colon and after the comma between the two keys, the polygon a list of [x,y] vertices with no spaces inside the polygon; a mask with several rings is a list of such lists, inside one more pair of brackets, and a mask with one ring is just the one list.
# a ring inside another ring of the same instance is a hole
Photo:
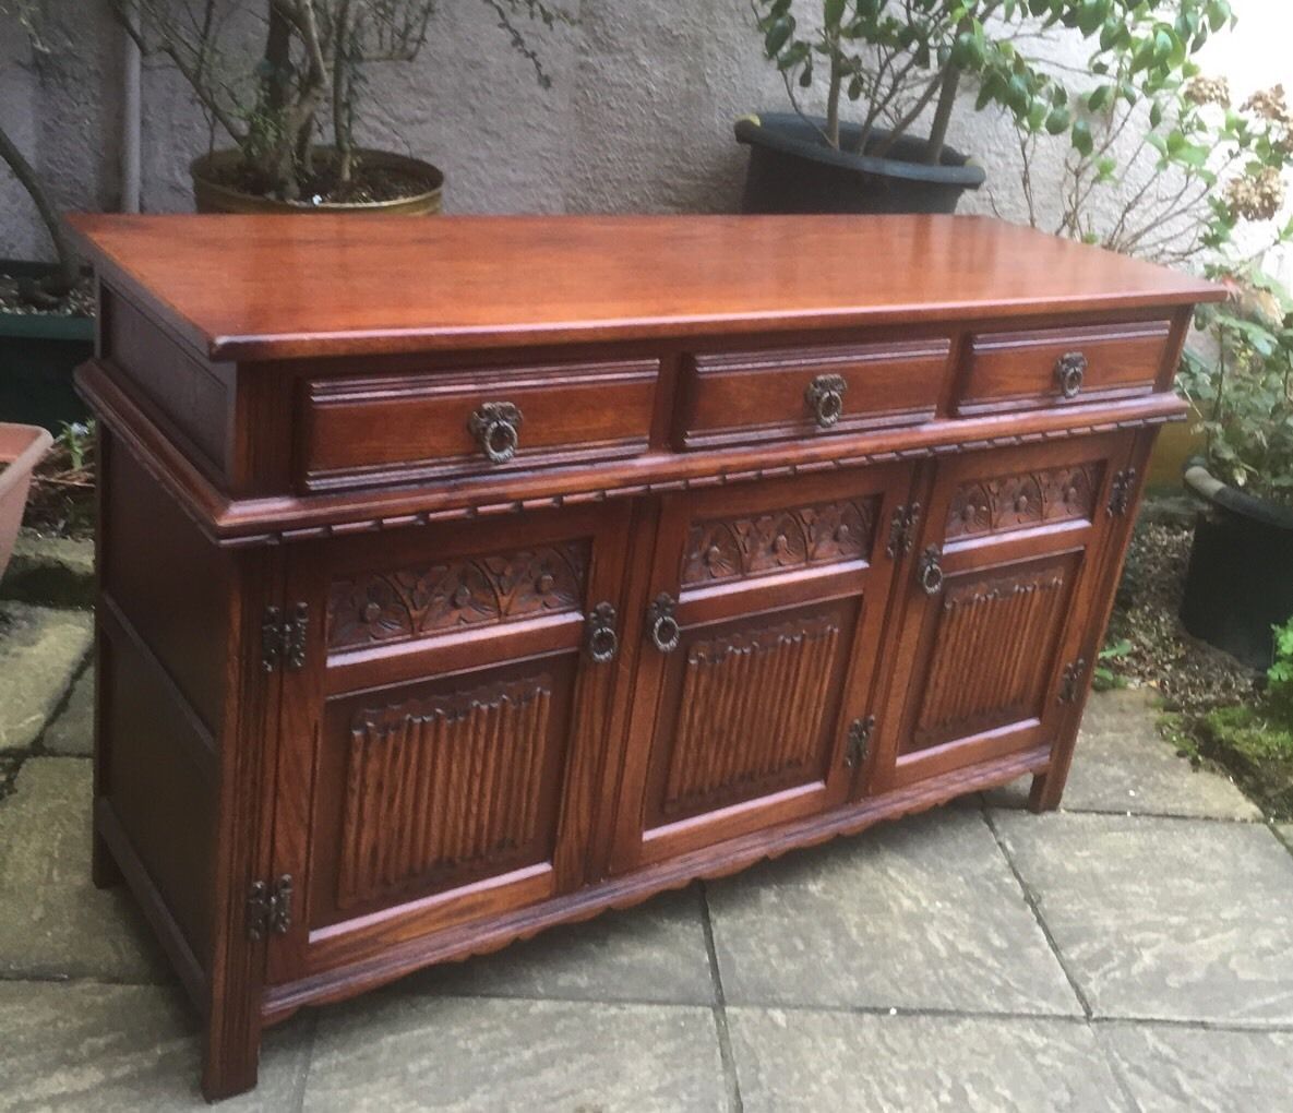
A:
{"label": "mossy paving slab at left edge, beside the sideboard's dark side", "polygon": [[80,758],[30,758],[0,801],[0,972],[163,981],[166,960],[125,889],[89,879],[89,801]]}

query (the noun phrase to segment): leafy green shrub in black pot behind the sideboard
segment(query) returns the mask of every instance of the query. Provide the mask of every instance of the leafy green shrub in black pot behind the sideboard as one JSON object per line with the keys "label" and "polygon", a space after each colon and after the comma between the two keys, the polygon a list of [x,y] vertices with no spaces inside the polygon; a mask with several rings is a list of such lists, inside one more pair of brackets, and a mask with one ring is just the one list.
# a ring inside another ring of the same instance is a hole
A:
{"label": "leafy green shrub in black pot behind the sideboard", "polygon": [[[1089,111],[1179,71],[1230,19],[1226,0],[1175,0],[1171,22],[1160,10],[1168,5],[1143,0],[753,3],[793,111],[736,124],[751,149],[745,212],[953,212],[985,180],[948,145],[963,85],[976,88],[978,109],[996,105],[1027,134],[1068,136],[1090,153]],[[1096,44],[1085,72],[1028,57],[1024,48],[1051,27]],[[1127,88],[1104,80],[1113,53],[1135,59]],[[815,93],[820,112],[803,103]],[[860,106],[852,122],[847,103]]]}

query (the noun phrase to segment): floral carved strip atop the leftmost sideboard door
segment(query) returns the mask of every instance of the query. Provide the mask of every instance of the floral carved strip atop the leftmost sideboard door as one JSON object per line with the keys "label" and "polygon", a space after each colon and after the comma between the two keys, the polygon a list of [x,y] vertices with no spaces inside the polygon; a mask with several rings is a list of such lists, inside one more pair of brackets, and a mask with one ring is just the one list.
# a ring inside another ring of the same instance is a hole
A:
{"label": "floral carved strip atop the leftmost sideboard door", "polygon": [[340,579],[328,593],[328,648],[578,610],[587,571],[587,544],[572,542]]}

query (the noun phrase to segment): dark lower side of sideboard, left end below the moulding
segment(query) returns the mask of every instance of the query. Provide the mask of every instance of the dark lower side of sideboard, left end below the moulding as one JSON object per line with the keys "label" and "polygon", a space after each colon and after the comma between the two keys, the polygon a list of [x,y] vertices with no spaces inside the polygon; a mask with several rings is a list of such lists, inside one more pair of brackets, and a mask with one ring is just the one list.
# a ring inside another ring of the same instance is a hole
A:
{"label": "dark lower side of sideboard, left end below the moulding", "polygon": [[98,807],[197,958],[211,953],[229,557],[112,442],[101,477]]}

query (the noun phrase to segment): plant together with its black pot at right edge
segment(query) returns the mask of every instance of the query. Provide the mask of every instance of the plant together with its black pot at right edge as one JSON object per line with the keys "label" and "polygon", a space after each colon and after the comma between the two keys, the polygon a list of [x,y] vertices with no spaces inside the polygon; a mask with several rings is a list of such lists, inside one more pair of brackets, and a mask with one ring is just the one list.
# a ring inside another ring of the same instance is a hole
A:
{"label": "plant together with its black pot at right edge", "polygon": [[1231,299],[1201,312],[1215,357],[1187,353],[1181,383],[1206,415],[1186,469],[1201,511],[1181,618],[1254,668],[1293,617],[1293,299],[1261,271],[1223,273]]}

